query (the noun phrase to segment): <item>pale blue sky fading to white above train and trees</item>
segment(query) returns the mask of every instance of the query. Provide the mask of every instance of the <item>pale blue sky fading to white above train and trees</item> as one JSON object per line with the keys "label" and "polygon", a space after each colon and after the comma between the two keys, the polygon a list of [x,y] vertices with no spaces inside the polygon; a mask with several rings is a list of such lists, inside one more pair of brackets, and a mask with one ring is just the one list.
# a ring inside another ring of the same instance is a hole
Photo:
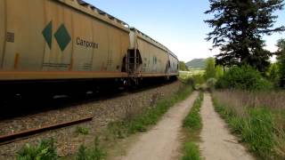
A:
{"label": "pale blue sky fading to white above train and trees", "polygon": [[[85,0],[104,12],[138,28],[160,44],[167,46],[179,60],[208,58],[218,53],[210,51],[211,42],[205,38],[212,28],[204,20],[209,9],[208,0]],[[285,11],[275,12],[276,27],[285,25]],[[276,51],[276,42],[285,33],[264,36],[266,49]]]}

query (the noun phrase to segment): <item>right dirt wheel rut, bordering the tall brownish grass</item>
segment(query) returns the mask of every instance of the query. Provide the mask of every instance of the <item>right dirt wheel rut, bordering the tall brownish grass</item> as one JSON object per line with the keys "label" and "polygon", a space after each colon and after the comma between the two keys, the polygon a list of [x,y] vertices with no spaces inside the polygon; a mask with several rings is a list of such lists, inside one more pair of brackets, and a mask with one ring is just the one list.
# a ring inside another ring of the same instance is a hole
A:
{"label": "right dirt wheel rut, bordering the tall brownish grass", "polygon": [[205,94],[201,108],[201,154],[211,160],[252,160],[242,145],[226,128],[226,124],[214,110],[209,93]]}

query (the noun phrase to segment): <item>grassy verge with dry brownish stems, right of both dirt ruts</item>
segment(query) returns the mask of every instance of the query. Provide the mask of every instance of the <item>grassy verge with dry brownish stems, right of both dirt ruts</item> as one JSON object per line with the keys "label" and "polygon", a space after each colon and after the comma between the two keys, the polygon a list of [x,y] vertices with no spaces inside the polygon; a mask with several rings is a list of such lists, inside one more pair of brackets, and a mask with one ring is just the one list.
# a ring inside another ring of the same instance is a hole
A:
{"label": "grassy verge with dry brownish stems, right of both dirt ruts", "polygon": [[249,151],[261,159],[285,159],[284,92],[213,92],[213,100]]}

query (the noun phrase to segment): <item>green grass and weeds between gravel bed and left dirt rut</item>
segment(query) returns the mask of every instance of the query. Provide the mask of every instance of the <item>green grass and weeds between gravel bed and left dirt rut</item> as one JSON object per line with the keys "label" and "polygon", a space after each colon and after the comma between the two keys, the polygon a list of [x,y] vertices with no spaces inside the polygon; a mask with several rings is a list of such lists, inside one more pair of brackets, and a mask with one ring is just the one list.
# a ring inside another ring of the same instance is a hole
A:
{"label": "green grass and weeds between gravel bed and left dirt rut", "polygon": [[[81,146],[78,148],[77,155],[74,157],[67,156],[61,157],[61,159],[105,159],[107,157],[106,150],[110,147],[110,144],[116,144],[118,139],[126,138],[135,132],[147,131],[151,125],[156,124],[159,121],[160,117],[167,112],[168,108],[174,106],[175,103],[186,99],[192,92],[192,86],[190,81],[184,80],[183,82],[184,83],[180,87],[179,91],[171,98],[158,100],[156,104],[150,108],[146,108],[140,114],[110,123],[108,128],[98,135],[100,138],[95,138],[93,145],[89,145],[87,148],[85,146]],[[79,134],[88,134],[88,130],[82,127],[77,127],[76,132]],[[57,159],[57,149],[53,144],[53,140],[47,140],[48,142],[45,141],[46,140],[40,142],[37,147],[32,147],[27,144],[19,151],[17,159],[27,159],[27,157],[49,157]]]}

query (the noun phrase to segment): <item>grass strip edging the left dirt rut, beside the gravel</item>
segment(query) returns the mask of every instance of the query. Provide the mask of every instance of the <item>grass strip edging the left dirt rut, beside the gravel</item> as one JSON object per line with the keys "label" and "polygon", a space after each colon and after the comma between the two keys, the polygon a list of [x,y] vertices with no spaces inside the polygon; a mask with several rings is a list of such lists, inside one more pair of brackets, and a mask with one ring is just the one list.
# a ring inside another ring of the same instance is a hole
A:
{"label": "grass strip edging the left dirt rut, beside the gravel", "polygon": [[[122,120],[108,124],[106,130],[100,133],[103,142],[99,151],[98,149],[88,149],[82,146],[77,151],[77,160],[89,160],[86,157],[90,157],[93,152],[97,153],[95,155],[99,155],[97,159],[108,159],[107,151],[110,151],[109,154],[112,155],[112,150],[108,150],[108,148],[118,145],[119,139],[124,139],[136,132],[146,132],[151,125],[157,124],[168,108],[174,106],[178,101],[186,99],[191,94],[193,91],[191,83],[187,80],[185,83],[170,99],[158,100],[153,106],[145,108],[139,114],[130,114]],[[119,149],[118,154],[122,152],[121,149]]]}

